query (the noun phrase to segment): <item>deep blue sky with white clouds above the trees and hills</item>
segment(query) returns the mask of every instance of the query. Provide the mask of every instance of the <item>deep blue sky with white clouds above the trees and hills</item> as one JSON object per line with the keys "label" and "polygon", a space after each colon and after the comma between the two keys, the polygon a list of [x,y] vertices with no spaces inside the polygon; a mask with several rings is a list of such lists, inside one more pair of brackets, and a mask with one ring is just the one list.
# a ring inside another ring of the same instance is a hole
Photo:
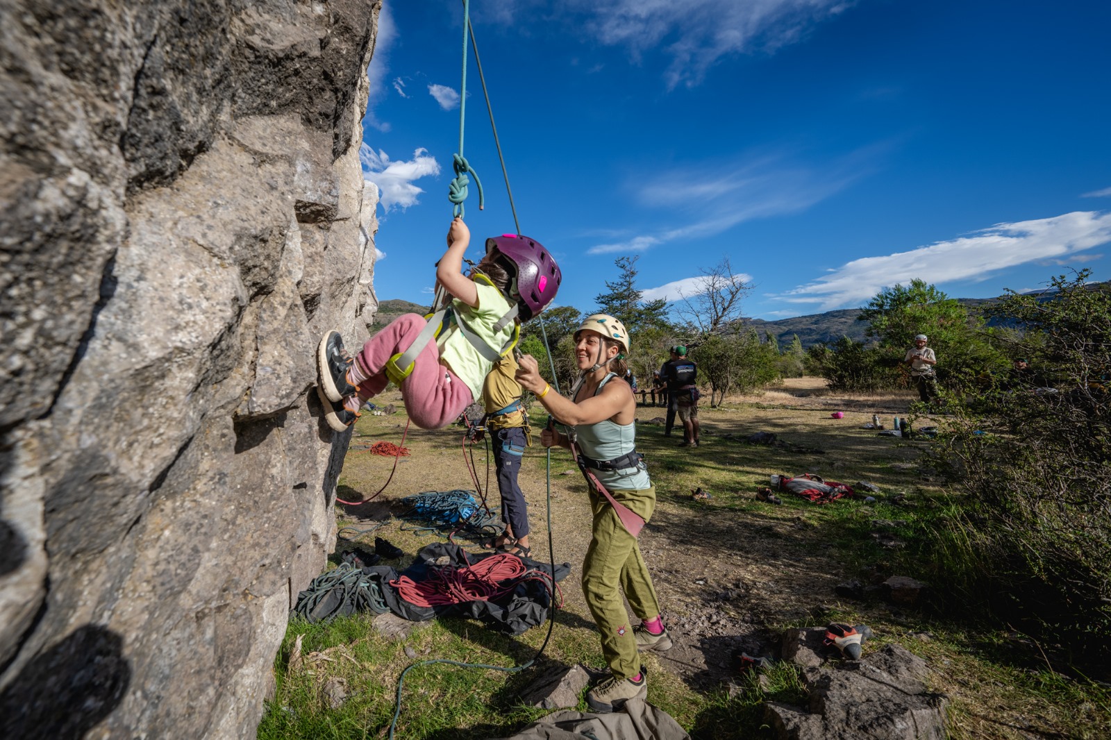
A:
{"label": "deep blue sky with white clouds above the trees and hills", "polygon": [[[523,233],[594,308],[639,254],[650,298],[728,257],[764,319],[1111,278],[1111,3],[471,0]],[[459,149],[458,0],[386,0],[362,160],[380,299],[430,300]],[[473,54],[466,220],[514,231]]]}

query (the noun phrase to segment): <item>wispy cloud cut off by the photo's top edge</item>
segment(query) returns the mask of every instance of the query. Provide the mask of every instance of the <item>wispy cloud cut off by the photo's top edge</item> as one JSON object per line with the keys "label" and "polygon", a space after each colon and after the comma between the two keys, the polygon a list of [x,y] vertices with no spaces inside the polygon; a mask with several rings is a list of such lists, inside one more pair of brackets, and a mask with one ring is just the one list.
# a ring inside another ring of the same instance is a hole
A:
{"label": "wispy cloud cut off by the photo's top edge", "polygon": [[692,87],[721,57],[774,51],[852,6],[852,0],[574,0],[588,32],[634,59],[663,47],[668,88]]}

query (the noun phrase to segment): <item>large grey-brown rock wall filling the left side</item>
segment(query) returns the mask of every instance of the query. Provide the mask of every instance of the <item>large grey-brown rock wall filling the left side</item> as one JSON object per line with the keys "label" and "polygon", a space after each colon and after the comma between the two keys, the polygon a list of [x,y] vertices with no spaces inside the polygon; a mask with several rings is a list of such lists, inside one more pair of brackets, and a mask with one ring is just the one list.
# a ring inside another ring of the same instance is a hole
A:
{"label": "large grey-brown rock wall filling the left side", "polygon": [[252,738],[334,543],[377,0],[0,2],[0,737]]}

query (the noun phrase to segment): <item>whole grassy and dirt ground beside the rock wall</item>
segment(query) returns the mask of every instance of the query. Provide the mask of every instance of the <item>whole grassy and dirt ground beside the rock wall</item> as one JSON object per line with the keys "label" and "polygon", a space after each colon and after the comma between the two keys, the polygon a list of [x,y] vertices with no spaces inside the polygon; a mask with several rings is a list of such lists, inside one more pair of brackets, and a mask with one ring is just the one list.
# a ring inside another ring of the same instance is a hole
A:
{"label": "whole grassy and dirt ground beside the rock wall", "polygon": [[[663,436],[662,427],[652,422],[663,409],[638,410],[638,447],[659,499],[641,548],[677,638],[673,650],[645,658],[649,700],[694,738],[770,737],[761,727],[760,704],[767,698],[800,701],[798,677],[779,666],[769,672],[770,680],[757,686],[735,673],[729,653],[770,653],[784,627],[833,620],[865,622],[875,631],[877,643],[900,642],[925,658],[931,689],[951,699],[953,738],[1111,737],[1107,686],[1060,664],[1052,646],[1008,624],[945,618],[945,599],[954,597],[947,584],[931,582],[931,563],[961,553],[931,548],[937,532],[954,526],[960,500],[919,464],[925,442],[878,438],[861,428],[872,413],[890,423],[892,416],[905,414],[911,400],[892,394],[833,397],[821,381],[789,381],[758,396],[729,398],[720,409],[703,408],[698,449],[679,448],[678,437]],[[400,408],[397,394],[387,393],[382,402]],[[830,418],[834,410],[844,411],[844,418]],[[403,424],[403,411],[359,421],[340,498],[361,500],[381,488],[393,460],[362,448],[378,440],[399,443]],[[744,441],[758,431],[775,433],[783,444]],[[411,454],[400,459],[389,487],[373,501],[338,514],[341,527],[378,529],[356,542],[340,540],[338,549],[372,549],[373,538],[380,536],[409,553],[402,567],[411,561],[432,538],[403,528],[407,522],[397,518],[404,510],[399,501],[422,491],[474,488],[461,438],[458,428],[411,429],[406,440]],[[474,461],[486,487],[488,460],[481,447],[474,450]],[[259,737],[386,737],[399,677],[412,663],[443,659],[512,669],[546,646],[536,664],[523,671],[438,663],[406,677],[397,737],[506,737],[543,713],[518,700],[540,674],[574,663],[602,668],[579,586],[590,530],[583,482],[569,456],[553,452],[549,494],[548,470],[542,449],[527,452],[521,484],[530,503],[533,557],[547,561],[554,554],[557,562],[572,564],[561,584],[564,606],[556,611],[553,624],[507,638],[476,621],[440,619],[417,623],[403,639],[391,639],[371,627],[369,614],[330,624],[292,621],[276,661],[277,693]],[[849,483],[869,481],[880,492],[873,503],[853,499],[821,507],[801,499],[771,506],[753,498],[769,474],[803,472]],[[492,470],[489,474],[492,483]],[[694,488],[711,498],[692,500]],[[497,510],[496,486],[489,500]],[[893,547],[873,537],[875,520],[893,522],[885,527],[894,537],[888,542]],[[918,577],[935,596],[923,609],[912,610],[879,600],[850,601],[833,591],[851,578],[867,582],[890,574]],[[344,698],[337,700],[340,693]],[[584,702],[579,708],[585,709]]]}

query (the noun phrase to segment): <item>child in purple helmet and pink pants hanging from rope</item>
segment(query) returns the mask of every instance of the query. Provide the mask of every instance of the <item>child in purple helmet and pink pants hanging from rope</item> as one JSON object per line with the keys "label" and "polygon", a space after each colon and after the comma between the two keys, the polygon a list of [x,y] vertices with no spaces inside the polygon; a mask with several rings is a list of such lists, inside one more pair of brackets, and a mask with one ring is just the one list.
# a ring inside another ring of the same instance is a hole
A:
{"label": "child in purple helmet and pink pants hanging from rope", "polygon": [[551,303],[562,277],[539,242],[517,234],[487,239],[486,257],[463,274],[470,240],[463,220],[453,219],[448,251],[436,270],[438,286],[451,300],[431,319],[398,317],[356,358],[343,348],[340,332],[320,340],[317,391],[329,427],[350,427],[362,404],[391,380],[401,389],[409,418],[422,429],[447,427],[481,397],[487,373],[512,348],[520,322]]}

